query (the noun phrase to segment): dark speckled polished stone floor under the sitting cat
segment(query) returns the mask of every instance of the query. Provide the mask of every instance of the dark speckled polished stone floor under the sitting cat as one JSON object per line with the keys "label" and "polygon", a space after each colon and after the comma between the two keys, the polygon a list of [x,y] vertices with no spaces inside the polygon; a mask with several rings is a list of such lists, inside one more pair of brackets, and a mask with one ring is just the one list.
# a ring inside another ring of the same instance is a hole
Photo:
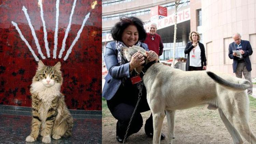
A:
{"label": "dark speckled polished stone floor under the sitting cat", "polygon": [[[0,114],[0,144],[41,144],[42,137],[36,142],[25,142],[30,134],[31,116]],[[72,136],[52,139],[52,144],[101,144],[101,119],[74,119]]]}

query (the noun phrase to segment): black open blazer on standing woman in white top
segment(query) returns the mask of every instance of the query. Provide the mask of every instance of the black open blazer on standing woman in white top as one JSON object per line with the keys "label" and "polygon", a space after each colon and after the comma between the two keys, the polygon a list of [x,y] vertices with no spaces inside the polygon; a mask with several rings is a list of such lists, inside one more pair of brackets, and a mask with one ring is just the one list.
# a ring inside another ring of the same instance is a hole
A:
{"label": "black open blazer on standing woman in white top", "polygon": [[[198,42],[198,45],[201,50],[201,66],[206,66],[206,57],[205,57],[204,46],[200,42]],[[185,50],[184,50],[184,53],[187,54],[186,71],[189,71],[189,53],[193,48],[194,48],[194,46],[192,45],[192,42],[188,42],[185,47]]]}

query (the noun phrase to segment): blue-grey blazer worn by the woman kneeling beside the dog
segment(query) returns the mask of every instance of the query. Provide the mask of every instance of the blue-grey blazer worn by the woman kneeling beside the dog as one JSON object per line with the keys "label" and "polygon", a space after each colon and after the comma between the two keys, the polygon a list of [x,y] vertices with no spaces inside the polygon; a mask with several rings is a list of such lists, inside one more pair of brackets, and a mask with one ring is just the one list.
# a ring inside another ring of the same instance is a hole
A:
{"label": "blue-grey blazer worn by the woman kneeling beside the dog", "polygon": [[[141,47],[148,51],[147,44],[141,43]],[[116,43],[109,42],[104,52],[104,61],[108,69],[108,74],[105,77],[105,84],[102,90],[102,97],[106,100],[110,100],[115,95],[122,83],[123,77],[130,77],[129,62],[119,65],[117,54]]]}

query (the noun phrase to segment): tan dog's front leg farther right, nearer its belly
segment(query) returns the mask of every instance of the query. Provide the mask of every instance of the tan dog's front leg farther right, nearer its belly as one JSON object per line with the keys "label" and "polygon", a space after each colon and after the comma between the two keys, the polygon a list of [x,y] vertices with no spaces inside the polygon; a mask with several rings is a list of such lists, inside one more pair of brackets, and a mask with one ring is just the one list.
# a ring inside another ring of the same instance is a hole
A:
{"label": "tan dog's front leg farther right, nearer its belly", "polygon": [[166,117],[168,123],[168,144],[172,144],[174,139],[175,111],[166,110]]}

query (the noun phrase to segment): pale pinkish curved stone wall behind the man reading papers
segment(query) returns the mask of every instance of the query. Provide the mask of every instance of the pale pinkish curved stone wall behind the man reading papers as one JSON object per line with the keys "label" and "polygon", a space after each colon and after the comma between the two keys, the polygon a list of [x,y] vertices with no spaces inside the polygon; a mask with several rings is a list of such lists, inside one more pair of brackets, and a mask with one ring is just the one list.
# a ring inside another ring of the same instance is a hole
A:
{"label": "pale pinkish curved stone wall behind the man reading papers", "polygon": [[208,70],[233,73],[228,57],[232,34],[239,32],[242,40],[251,43],[252,77],[256,77],[256,1],[202,0],[202,34]]}

